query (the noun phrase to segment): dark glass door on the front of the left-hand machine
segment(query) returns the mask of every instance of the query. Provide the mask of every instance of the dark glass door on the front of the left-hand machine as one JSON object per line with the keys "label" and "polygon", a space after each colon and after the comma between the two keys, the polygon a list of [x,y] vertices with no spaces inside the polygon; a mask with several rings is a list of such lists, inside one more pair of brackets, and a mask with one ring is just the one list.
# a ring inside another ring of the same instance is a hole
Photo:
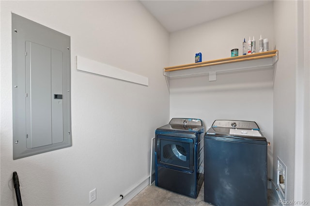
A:
{"label": "dark glass door on the front of the left-hand machine", "polygon": [[157,164],[178,170],[193,170],[193,139],[158,135]]}

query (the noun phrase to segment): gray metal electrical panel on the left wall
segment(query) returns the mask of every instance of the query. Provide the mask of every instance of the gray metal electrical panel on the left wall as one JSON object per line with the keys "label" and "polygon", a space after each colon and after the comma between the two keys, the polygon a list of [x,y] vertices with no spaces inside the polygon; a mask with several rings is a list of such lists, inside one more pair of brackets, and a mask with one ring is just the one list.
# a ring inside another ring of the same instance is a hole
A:
{"label": "gray metal electrical panel on the left wall", "polygon": [[70,37],[12,14],[13,159],[72,145]]}

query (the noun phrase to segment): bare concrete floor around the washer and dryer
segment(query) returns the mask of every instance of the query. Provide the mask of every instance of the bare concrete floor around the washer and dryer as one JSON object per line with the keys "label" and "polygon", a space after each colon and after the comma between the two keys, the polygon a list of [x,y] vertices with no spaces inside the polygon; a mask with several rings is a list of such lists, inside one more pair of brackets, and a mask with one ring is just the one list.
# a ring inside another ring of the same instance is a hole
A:
{"label": "bare concrete floor around the washer and dryer", "polygon": [[[144,188],[125,206],[212,206],[203,200],[203,184],[197,199],[171,192],[153,183]],[[278,206],[271,190],[268,190],[268,206]]]}

